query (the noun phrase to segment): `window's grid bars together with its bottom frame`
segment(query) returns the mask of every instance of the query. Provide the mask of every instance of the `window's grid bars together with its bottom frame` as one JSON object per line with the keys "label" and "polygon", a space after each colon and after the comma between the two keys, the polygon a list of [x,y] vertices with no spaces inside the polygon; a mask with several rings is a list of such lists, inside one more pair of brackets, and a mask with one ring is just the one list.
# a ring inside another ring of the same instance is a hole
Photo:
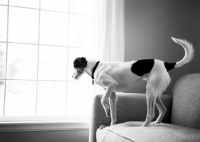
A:
{"label": "window's grid bars together with its bottom frame", "polygon": [[[70,0],[68,1],[68,9],[69,9],[69,2],[70,2]],[[9,0],[8,0],[8,4],[7,5],[5,5],[5,4],[0,4],[0,6],[6,6],[7,7],[7,38],[6,38],[6,41],[0,41],[0,43],[5,43],[6,44],[6,71],[5,72],[7,72],[7,62],[8,62],[8,44],[28,44],[28,45],[36,45],[36,46],[38,46],[38,49],[40,48],[40,46],[54,46],[54,47],[56,47],[56,46],[58,46],[58,47],[66,47],[67,48],[67,54],[69,54],[69,49],[70,48],[80,48],[80,49],[91,49],[91,48],[87,48],[87,47],[72,47],[72,46],[70,46],[69,45],[69,15],[70,15],[70,13],[71,14],[78,14],[78,13],[72,13],[72,12],[70,12],[70,11],[68,11],[68,12],[61,12],[61,11],[54,11],[54,10],[45,10],[45,9],[41,9],[41,0],[40,0],[40,4],[39,4],[39,9],[38,8],[31,8],[31,7],[23,7],[23,6],[14,6],[14,5],[10,5],[9,4]],[[35,44],[35,43],[21,43],[21,42],[9,42],[8,41],[8,36],[9,36],[9,9],[10,9],[10,7],[15,7],[15,8],[25,8],[25,9],[33,9],[33,10],[38,10],[39,11],[39,22],[38,22],[38,43],[37,44]],[[67,45],[66,46],[60,46],[60,45],[48,45],[48,44],[40,44],[40,26],[41,26],[41,23],[40,23],[40,20],[41,20],[41,11],[51,11],[51,12],[59,12],[59,13],[67,13],[68,14],[68,38],[67,38]],[[94,49],[91,49],[91,50],[94,50]],[[38,50],[38,58],[39,58],[39,50]],[[69,56],[67,57],[67,58],[69,58]],[[38,59],[38,61],[37,62],[39,62],[39,59]],[[67,67],[68,67],[69,65],[68,65],[68,63],[67,63]],[[36,81],[37,82],[37,86],[38,86],[38,82],[40,81],[39,79],[38,79],[38,70],[39,70],[39,68],[37,67],[37,79],[36,80],[31,80],[31,81]],[[67,74],[67,76],[68,76],[68,72],[66,73]],[[54,123],[64,123],[64,124],[66,124],[66,125],[68,125],[68,123],[70,124],[70,126],[72,126],[71,124],[73,123],[73,124],[78,124],[78,123],[80,123],[80,124],[83,124],[83,128],[85,129],[85,128],[88,128],[88,120],[89,120],[89,118],[88,117],[83,117],[83,116],[81,116],[82,117],[82,119],[77,119],[77,118],[74,118],[74,117],[69,117],[69,116],[66,116],[66,111],[65,111],[65,116],[56,116],[56,117],[54,117],[54,116],[31,116],[31,117],[24,117],[24,116],[20,116],[20,117],[15,117],[15,116],[13,116],[13,117],[5,117],[4,115],[5,115],[5,99],[6,99],[6,82],[7,81],[9,81],[9,80],[26,80],[26,79],[8,79],[7,78],[7,75],[6,75],[6,73],[5,73],[5,78],[4,79],[0,79],[0,81],[4,81],[5,82],[5,85],[4,85],[4,104],[3,104],[3,116],[2,117],[0,117],[0,125],[5,125],[5,124],[11,124],[11,125],[26,125],[26,124],[28,124],[28,125],[30,125],[30,124],[37,124],[38,126],[39,126],[39,124],[54,124]],[[49,81],[49,80],[47,80],[47,81]],[[60,80],[54,80],[54,81],[60,81]],[[67,79],[65,80],[66,81],[66,83],[68,84],[68,82],[76,82],[76,81],[70,81],[69,79],[68,79],[68,77],[67,77]],[[80,81],[80,82],[90,82],[90,81]],[[68,85],[67,85],[68,86]],[[38,92],[37,90],[36,90],[36,92]],[[36,97],[37,97],[37,93],[36,93]],[[67,97],[67,95],[66,95],[66,97]],[[37,103],[37,102],[36,102]],[[37,104],[36,104],[37,105]],[[67,109],[67,108],[65,108],[65,109]],[[79,117],[80,118],[80,117]],[[72,121],[73,120],[73,121]],[[76,123],[75,123],[76,122]],[[27,125],[27,126],[28,126]],[[73,128],[76,128],[76,126],[73,126],[73,127],[71,127],[72,129]],[[39,128],[39,127],[38,127]],[[68,127],[69,128],[69,127]],[[22,130],[23,130],[24,128],[22,128]],[[50,128],[51,129],[51,128]],[[1,129],[0,129],[0,131],[1,131]]]}

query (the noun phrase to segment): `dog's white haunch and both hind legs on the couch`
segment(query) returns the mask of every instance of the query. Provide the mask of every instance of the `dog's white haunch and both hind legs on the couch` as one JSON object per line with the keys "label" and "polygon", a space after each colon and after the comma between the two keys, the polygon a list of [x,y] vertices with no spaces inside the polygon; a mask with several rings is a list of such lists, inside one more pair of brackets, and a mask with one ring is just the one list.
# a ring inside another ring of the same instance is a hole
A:
{"label": "dog's white haunch and both hind legs on the couch", "polygon": [[155,113],[155,104],[159,109],[160,115],[156,123],[160,123],[166,108],[160,100],[160,95],[164,92],[170,82],[169,74],[166,71],[154,70],[147,79],[147,116],[146,120],[142,126],[148,126],[152,119],[154,118]]}

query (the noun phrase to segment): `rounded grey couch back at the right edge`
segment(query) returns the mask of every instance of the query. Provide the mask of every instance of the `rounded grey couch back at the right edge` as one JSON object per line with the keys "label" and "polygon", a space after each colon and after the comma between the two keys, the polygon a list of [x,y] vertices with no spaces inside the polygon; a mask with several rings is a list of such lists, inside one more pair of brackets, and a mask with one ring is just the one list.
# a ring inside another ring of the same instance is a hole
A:
{"label": "rounded grey couch back at the right edge", "polygon": [[185,75],[176,82],[171,123],[200,129],[200,73]]}

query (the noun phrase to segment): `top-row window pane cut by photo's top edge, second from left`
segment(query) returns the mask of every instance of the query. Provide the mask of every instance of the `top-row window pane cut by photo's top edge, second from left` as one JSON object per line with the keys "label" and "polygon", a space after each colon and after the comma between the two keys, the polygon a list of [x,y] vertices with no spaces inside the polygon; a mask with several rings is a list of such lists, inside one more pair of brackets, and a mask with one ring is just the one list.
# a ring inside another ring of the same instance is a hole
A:
{"label": "top-row window pane cut by photo's top edge, second from left", "polygon": [[39,0],[10,0],[9,4],[12,6],[39,8]]}

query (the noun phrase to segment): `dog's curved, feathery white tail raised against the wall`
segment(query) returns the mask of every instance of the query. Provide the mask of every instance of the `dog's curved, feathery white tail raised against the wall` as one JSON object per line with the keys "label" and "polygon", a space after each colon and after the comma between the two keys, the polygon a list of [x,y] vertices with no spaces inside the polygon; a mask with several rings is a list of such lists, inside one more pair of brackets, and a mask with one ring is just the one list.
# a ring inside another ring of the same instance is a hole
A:
{"label": "dog's curved, feathery white tail raised against the wall", "polygon": [[190,62],[193,59],[194,48],[193,48],[193,45],[186,40],[176,39],[173,37],[171,37],[171,38],[175,43],[181,45],[185,50],[185,56],[183,57],[183,59],[176,62],[176,64],[175,64],[175,68],[179,68],[179,67],[185,65],[186,63]]}

